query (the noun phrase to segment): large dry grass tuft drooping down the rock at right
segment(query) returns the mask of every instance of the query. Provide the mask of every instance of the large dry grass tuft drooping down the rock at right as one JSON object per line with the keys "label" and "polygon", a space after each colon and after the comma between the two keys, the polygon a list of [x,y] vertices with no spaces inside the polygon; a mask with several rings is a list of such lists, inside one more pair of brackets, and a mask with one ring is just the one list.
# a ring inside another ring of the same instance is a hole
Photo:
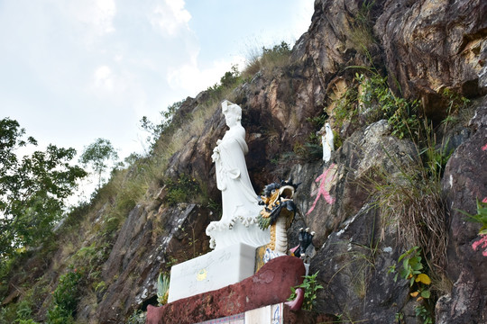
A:
{"label": "large dry grass tuft drooping down the rock at right", "polygon": [[395,176],[376,168],[365,187],[381,211],[382,228],[395,226],[402,244],[421,247],[429,266],[441,269],[448,243],[446,206],[439,182],[423,171],[420,162],[400,166]]}

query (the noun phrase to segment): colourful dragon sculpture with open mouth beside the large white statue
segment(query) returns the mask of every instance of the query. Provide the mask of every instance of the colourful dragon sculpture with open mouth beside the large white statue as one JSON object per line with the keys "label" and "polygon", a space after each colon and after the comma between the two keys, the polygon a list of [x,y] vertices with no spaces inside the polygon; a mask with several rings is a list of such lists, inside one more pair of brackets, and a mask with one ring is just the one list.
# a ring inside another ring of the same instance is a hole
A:
{"label": "colourful dragon sculpture with open mouth beside the large white statue", "polygon": [[[257,221],[261,229],[271,226],[271,242],[266,250],[272,254],[271,259],[286,255],[288,252],[288,235],[292,220],[296,214],[296,204],[292,201],[294,192],[299,184],[293,184],[292,180],[280,181],[280,183],[268,184],[264,187],[262,201],[264,205],[262,211],[257,216]],[[266,252],[267,253],[267,252]]]}

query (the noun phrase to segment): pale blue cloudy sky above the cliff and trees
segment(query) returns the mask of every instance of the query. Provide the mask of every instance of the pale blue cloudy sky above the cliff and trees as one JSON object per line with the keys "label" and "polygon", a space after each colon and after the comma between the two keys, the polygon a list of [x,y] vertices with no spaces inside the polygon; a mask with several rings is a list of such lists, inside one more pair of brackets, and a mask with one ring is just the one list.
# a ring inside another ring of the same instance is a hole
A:
{"label": "pale blue cloudy sky above the cliff and trees", "polygon": [[142,153],[142,116],[158,121],[255,49],[293,45],[313,2],[0,0],[0,118],[41,146]]}

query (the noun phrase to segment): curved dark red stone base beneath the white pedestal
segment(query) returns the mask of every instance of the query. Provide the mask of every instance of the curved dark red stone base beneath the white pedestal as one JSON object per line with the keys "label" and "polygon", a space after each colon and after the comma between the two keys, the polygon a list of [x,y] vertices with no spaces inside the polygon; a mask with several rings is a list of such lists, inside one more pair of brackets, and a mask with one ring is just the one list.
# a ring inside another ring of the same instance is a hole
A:
{"label": "curved dark red stone base beneath the white pedestal", "polygon": [[298,257],[276,257],[238,284],[161,307],[149,305],[146,323],[193,324],[285,302],[290,287],[301,284],[304,275],[305,267]]}

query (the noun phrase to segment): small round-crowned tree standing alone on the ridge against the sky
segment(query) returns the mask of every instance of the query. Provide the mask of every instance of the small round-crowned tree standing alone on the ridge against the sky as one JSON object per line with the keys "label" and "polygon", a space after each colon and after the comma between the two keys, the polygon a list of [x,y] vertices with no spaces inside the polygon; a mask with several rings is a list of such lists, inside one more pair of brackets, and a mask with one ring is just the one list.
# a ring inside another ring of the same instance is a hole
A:
{"label": "small round-crowned tree standing alone on the ridge against the sky", "polygon": [[94,143],[85,148],[83,154],[79,158],[84,166],[91,164],[93,170],[98,175],[98,189],[101,187],[102,173],[108,167],[107,162],[109,160],[118,159],[118,154],[112,143],[108,139],[96,139]]}

